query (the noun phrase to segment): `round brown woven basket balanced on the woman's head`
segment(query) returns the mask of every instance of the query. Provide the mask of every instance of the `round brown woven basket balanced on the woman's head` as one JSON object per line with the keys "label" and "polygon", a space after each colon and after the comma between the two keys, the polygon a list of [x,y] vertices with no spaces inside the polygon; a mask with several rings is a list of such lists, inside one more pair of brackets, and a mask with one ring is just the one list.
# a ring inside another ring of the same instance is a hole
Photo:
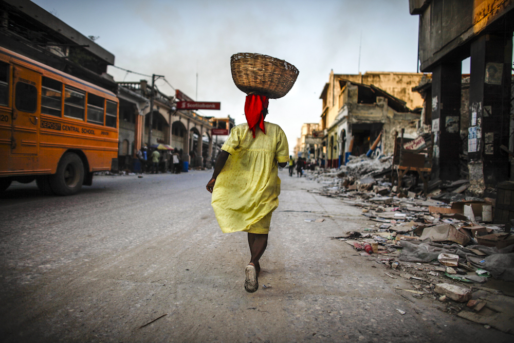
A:
{"label": "round brown woven basket balanced on the woman's head", "polygon": [[298,69],[290,63],[260,53],[240,52],[230,58],[232,79],[246,94],[282,98],[298,77]]}

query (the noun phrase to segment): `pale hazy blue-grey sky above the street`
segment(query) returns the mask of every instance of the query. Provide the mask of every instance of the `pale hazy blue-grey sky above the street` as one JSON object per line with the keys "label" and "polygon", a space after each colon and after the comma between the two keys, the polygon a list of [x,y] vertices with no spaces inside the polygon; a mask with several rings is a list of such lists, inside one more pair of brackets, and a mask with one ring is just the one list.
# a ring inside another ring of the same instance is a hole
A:
{"label": "pale hazy blue-grey sky above the street", "polygon": [[[230,57],[256,52],[299,69],[291,91],[270,100],[266,121],[284,130],[292,153],[302,123],[319,122],[331,69],[415,72],[418,16],[408,0],[33,0],[115,55],[115,65],[164,75],[197,101],[221,102],[205,116],[246,121],[246,94],[233,83]],[[359,54],[360,51],[360,54]],[[360,55],[360,61],[359,61]],[[360,68],[359,68],[360,65]],[[463,66],[464,69],[464,66]],[[116,81],[151,78],[112,66]],[[158,89],[174,95],[162,80]]]}

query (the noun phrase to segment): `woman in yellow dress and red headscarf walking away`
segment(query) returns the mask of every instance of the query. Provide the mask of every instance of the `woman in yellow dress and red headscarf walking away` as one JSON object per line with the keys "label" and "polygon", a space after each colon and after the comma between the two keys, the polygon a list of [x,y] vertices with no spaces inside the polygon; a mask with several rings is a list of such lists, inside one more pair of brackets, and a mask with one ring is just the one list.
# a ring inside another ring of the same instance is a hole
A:
{"label": "woman in yellow dress and red headscarf walking away", "polygon": [[259,259],[268,243],[271,213],[279,205],[277,165],[285,167],[289,160],[284,131],[264,121],[267,107],[267,97],[247,96],[248,123],[230,131],[207,184],[222,231],[248,232],[251,257],[245,268],[245,290],[250,293],[259,288]]}

